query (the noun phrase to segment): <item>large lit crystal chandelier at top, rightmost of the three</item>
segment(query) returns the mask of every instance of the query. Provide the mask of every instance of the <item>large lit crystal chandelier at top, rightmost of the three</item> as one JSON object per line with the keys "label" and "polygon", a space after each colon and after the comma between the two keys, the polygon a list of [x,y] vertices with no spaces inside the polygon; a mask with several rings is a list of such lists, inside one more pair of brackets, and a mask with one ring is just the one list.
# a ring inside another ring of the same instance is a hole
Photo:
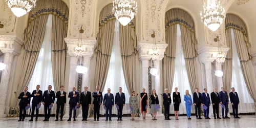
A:
{"label": "large lit crystal chandelier at top, rightmost of the three", "polygon": [[204,11],[200,12],[201,22],[204,23],[211,31],[216,31],[223,23],[225,18],[225,9],[221,7],[220,1],[208,0],[207,7],[204,3]]}

